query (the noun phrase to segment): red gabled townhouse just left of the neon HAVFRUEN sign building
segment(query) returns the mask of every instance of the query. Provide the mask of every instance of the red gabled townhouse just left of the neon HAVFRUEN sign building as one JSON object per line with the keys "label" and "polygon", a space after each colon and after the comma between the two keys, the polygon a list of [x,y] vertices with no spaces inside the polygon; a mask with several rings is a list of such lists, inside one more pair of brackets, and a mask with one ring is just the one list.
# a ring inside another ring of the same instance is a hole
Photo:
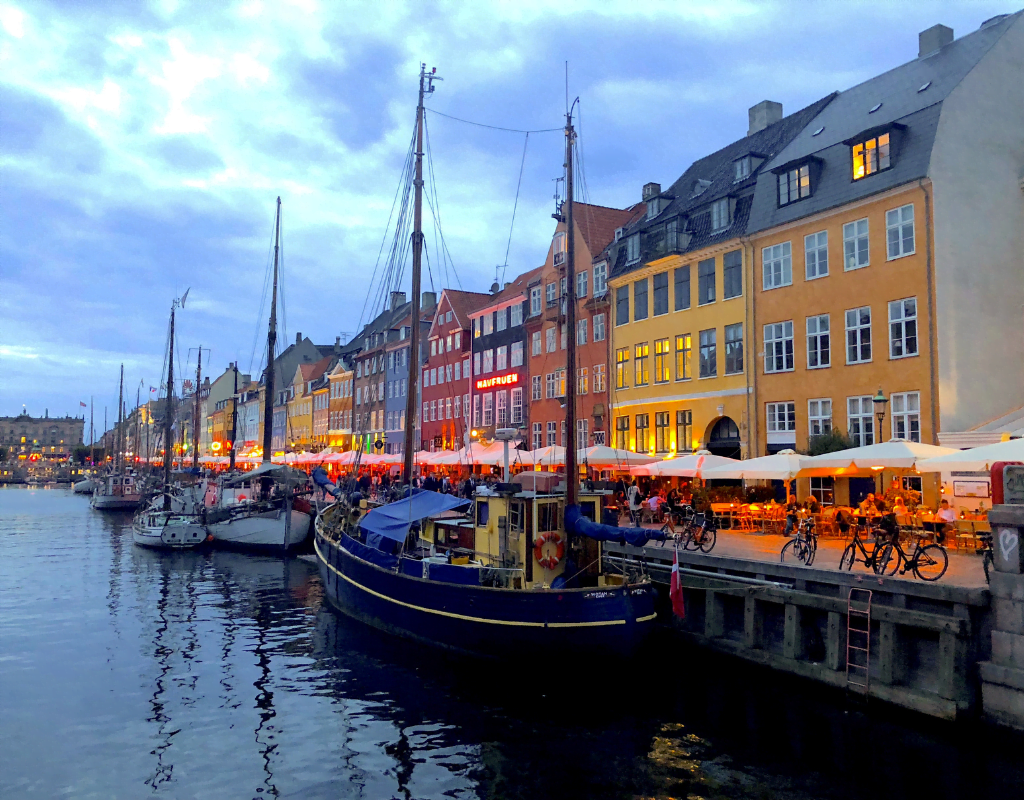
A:
{"label": "red gabled townhouse just left of the neon HAVFRUEN sign building", "polygon": [[422,448],[459,450],[465,444],[469,416],[470,313],[492,296],[445,289],[437,303],[425,346],[420,396]]}

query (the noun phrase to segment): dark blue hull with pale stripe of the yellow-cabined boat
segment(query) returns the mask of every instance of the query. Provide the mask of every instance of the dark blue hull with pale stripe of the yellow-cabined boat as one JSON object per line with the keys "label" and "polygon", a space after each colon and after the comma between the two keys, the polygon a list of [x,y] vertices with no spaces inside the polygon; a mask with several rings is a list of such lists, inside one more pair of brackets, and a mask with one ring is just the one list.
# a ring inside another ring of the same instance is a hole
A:
{"label": "dark blue hull with pale stripe of the yellow-cabined boat", "polygon": [[397,636],[472,656],[630,656],[653,629],[648,584],[517,590],[441,583],[366,561],[317,534],[326,595],[342,614]]}

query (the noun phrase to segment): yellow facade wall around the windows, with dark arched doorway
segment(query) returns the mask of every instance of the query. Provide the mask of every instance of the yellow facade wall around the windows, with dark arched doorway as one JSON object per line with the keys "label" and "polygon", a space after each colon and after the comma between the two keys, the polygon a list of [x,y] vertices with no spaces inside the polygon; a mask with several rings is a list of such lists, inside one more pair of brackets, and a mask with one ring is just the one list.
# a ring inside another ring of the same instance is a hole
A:
{"label": "yellow facade wall around the windows, with dark arched doorway", "polygon": [[[723,280],[723,256],[725,253],[739,250],[742,253],[741,273],[743,276],[742,292],[738,297],[724,299],[725,287]],[[715,296],[716,301],[706,305],[697,304],[699,279],[697,263],[715,258]],[[690,307],[679,311],[676,305],[674,269],[683,264],[690,265]],[[653,314],[653,277],[659,272],[668,272],[669,278],[669,311],[654,317]],[[671,457],[681,452],[699,450],[707,445],[707,438],[714,424],[723,416],[730,417],[739,428],[742,443],[746,441],[748,421],[748,373],[753,357],[753,348],[746,341],[749,331],[746,326],[746,304],[750,291],[748,281],[748,256],[737,239],[732,239],[714,248],[687,253],[684,256],[672,255],[658,259],[642,268],[609,281],[611,294],[611,320],[609,323],[610,345],[608,357],[608,382],[611,390],[612,411],[608,424],[608,445],[615,447],[616,418],[629,416],[630,430],[628,448],[636,449],[636,415],[649,415],[649,447],[651,455]],[[634,322],[634,284],[636,281],[648,279],[648,318]],[[630,322],[626,325],[615,325],[615,290],[621,286],[630,287]],[[735,375],[726,375],[725,360],[725,327],[733,324],[743,326],[743,371]],[[714,328],[717,337],[718,376],[699,377],[699,332]],[[676,371],[676,336],[690,334],[690,378],[679,380]],[[654,381],[655,340],[668,338],[670,343],[670,379],[666,383]],[[649,345],[648,364],[650,379],[646,386],[634,385],[635,345],[646,342]],[[626,387],[616,387],[616,351],[629,347]],[[690,410],[693,426],[691,441],[682,444],[676,441],[676,412]],[[668,452],[655,453],[655,414],[669,413],[669,445]],[[743,455],[746,448],[742,447]]]}

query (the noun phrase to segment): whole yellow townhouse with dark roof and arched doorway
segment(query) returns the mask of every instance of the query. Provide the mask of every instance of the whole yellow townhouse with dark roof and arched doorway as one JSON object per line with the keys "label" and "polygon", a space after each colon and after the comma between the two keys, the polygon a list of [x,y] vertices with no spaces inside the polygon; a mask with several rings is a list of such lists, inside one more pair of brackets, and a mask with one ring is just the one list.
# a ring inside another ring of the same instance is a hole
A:
{"label": "whole yellow townhouse with dark roof and arched doorway", "polygon": [[613,447],[751,455],[744,238],[757,176],[830,100],[788,117],[779,103],[755,106],[746,136],[694,162],[667,191],[647,183],[642,215],[614,233],[604,254]]}

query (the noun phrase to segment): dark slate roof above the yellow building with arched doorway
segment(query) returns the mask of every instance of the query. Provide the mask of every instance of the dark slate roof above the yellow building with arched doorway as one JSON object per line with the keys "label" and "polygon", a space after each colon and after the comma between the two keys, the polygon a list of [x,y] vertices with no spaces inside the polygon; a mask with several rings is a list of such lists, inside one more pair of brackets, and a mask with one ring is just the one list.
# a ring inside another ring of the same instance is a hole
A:
{"label": "dark slate roof above the yellow building with arched doorway", "polygon": [[[618,242],[609,245],[607,253],[611,263],[611,277],[637,269],[650,260],[652,253],[642,238],[640,261],[626,264],[626,240],[629,236],[638,230],[647,231],[655,228],[673,217],[680,219],[680,235],[685,229],[690,236],[688,244],[676,250],[677,253],[698,250],[716,241],[727,241],[746,233],[752,194],[757,176],[764,170],[765,165],[762,164],[750,176],[736,181],[733,162],[746,155],[758,156],[767,162],[783,150],[822,109],[826,108],[834,96],[835,94],[829,94],[822,97],[806,109],[783,117],[764,130],[744,136],[717,153],[693,162],[672,186],[662,193],[660,197],[671,202],[656,217],[648,220],[645,215],[642,216],[624,229]],[[698,181],[706,181],[707,186],[700,194],[694,195],[693,187]],[[712,230],[711,206],[715,201],[727,197],[736,201],[732,223],[722,230]]]}

